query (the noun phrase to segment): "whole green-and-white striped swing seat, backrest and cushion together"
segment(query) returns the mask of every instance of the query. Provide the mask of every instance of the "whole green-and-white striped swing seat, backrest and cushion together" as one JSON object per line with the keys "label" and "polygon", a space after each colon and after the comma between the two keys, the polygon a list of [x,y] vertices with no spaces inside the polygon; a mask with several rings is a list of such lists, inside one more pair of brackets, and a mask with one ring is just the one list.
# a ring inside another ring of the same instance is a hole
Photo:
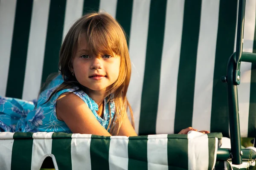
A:
{"label": "whole green-and-white striped swing seat, backrest and cushion together", "polygon": [[[88,11],[106,11],[127,35],[132,62],[127,97],[140,135],[0,132],[0,167],[244,168],[230,165],[231,149],[221,148],[223,137],[238,134],[230,128],[231,99],[221,82],[236,51],[238,8],[236,0],[0,0],[0,96],[36,99],[48,75],[58,72],[70,26]],[[247,0],[245,11],[243,52],[255,53],[256,2]],[[256,65],[248,61],[242,57],[238,136],[255,138]],[[174,134],[189,126],[211,133]],[[242,152],[244,163],[256,159],[253,149]]]}

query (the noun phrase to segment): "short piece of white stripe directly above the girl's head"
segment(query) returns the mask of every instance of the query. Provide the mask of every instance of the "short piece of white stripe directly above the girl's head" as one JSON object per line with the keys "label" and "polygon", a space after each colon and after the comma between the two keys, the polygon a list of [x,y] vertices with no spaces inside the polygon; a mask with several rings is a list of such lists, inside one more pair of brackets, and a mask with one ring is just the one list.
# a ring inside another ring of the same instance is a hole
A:
{"label": "short piece of white stripe directly above the girl's head", "polygon": [[116,6],[117,0],[100,0],[99,11],[105,11],[108,14],[111,14],[113,18],[116,18]]}

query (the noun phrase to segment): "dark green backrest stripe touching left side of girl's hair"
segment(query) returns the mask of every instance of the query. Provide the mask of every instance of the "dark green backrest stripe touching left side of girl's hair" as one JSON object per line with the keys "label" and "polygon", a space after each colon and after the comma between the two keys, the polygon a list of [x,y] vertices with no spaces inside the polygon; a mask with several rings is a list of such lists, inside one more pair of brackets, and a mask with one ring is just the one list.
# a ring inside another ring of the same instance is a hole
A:
{"label": "dark green backrest stripe touching left side of girl's hair", "polygon": [[44,52],[42,83],[51,73],[58,72],[58,57],[61,48],[66,0],[51,0]]}

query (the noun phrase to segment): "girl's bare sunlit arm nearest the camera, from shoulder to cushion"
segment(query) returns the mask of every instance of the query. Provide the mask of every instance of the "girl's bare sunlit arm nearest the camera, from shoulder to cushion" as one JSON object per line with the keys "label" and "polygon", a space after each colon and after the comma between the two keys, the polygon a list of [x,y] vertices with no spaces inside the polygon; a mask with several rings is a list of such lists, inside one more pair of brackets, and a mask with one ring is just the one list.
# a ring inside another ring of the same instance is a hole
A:
{"label": "girl's bare sunlit arm nearest the camera, from shoulder to cushion", "polygon": [[72,133],[111,136],[76,94],[69,92],[62,94],[56,103],[56,114],[59,120],[67,124]]}

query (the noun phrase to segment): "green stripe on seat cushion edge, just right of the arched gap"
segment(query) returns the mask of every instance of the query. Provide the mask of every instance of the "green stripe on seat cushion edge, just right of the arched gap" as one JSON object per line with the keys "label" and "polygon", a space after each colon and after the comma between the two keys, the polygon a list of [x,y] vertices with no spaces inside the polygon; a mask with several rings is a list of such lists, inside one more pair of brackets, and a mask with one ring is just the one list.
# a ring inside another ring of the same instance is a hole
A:
{"label": "green stripe on seat cushion edge, just right of the arched gap", "polygon": [[71,135],[67,133],[52,133],[52,154],[55,156],[60,170],[71,170]]}

